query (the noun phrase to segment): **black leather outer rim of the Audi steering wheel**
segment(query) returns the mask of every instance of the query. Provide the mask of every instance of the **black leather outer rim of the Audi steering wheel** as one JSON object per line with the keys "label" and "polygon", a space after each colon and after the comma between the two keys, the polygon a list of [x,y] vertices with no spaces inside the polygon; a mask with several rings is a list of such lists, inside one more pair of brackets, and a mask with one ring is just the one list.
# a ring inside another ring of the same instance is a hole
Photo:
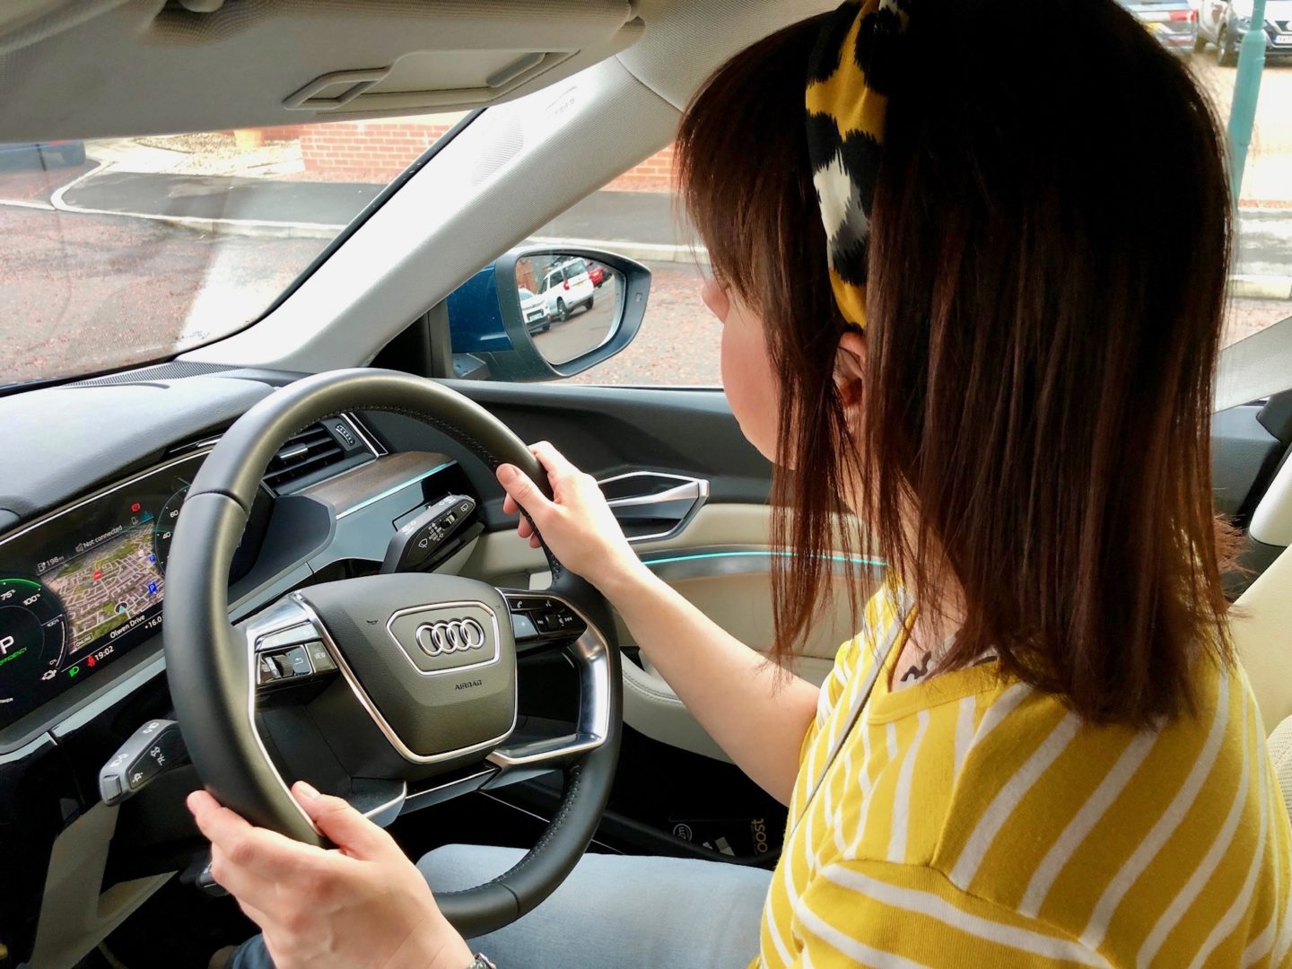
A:
{"label": "black leather outer rim of the Audi steering wheel", "polygon": [[[323,839],[291,798],[253,724],[247,643],[229,621],[226,576],[270,460],[295,433],[341,411],[393,411],[434,426],[490,470],[519,466],[550,496],[541,464],[488,411],[429,380],[355,368],[298,380],[258,402],[207,456],[185,497],[167,563],[163,606],[167,676],[190,757],[207,789],[252,823],[298,841]],[[541,540],[541,536],[540,536]],[[565,792],[547,831],[508,872],[474,889],[437,895],[464,935],[501,928],[559,885],[583,855],[610,796],[621,733],[621,681],[605,598],[544,547],[552,592],[579,605],[610,645],[610,730],[565,769]]]}

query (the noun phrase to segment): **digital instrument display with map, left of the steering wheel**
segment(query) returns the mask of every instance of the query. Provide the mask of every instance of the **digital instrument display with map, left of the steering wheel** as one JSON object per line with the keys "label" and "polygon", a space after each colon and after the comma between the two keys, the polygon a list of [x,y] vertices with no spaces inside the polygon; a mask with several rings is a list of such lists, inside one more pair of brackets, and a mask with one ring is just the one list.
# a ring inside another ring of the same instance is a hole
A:
{"label": "digital instrument display with map, left of the steering wheel", "polygon": [[[160,630],[171,539],[204,459],[178,459],[0,539],[0,726]],[[271,505],[261,490],[230,580],[255,562]]]}

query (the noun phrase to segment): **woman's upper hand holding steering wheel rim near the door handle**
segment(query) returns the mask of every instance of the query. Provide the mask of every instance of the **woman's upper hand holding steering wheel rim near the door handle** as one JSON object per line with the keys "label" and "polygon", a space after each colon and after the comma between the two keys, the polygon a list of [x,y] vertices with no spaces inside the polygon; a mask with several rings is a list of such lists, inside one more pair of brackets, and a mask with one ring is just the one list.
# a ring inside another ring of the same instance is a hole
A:
{"label": "woman's upper hand holding steering wheel rim near the door handle", "polygon": [[530,452],[548,473],[552,500],[539,491],[514,464],[497,468],[497,481],[506,491],[503,510],[518,514],[523,508],[534,526],[521,516],[517,534],[539,548],[536,527],[543,543],[566,568],[590,581],[602,594],[625,580],[640,575],[645,566],[624,537],[623,528],[606,504],[601,487],[590,474],[575,468],[547,441],[530,446]]}

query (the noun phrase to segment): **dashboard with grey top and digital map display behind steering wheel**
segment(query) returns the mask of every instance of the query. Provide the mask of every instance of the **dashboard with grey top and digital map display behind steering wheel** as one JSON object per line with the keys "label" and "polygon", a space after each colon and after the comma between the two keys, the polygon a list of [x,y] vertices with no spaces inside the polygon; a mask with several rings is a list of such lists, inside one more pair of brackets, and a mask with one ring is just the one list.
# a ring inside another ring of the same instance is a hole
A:
{"label": "dashboard with grey top and digital map display behind steering wheel", "polygon": [[[143,898],[191,860],[191,765],[116,806],[98,773],[142,725],[173,717],[163,602],[190,482],[238,417],[298,376],[162,364],[0,395],[6,453],[23,456],[0,465],[0,966],[36,951],[40,926],[58,937],[66,913],[97,919],[84,913],[107,886],[130,882]],[[336,415],[293,435],[234,556],[230,621],[293,589],[376,574],[397,530],[448,496],[473,510],[415,567],[459,571],[474,537],[508,521],[468,453],[391,413]],[[52,885],[88,894],[52,899]]]}

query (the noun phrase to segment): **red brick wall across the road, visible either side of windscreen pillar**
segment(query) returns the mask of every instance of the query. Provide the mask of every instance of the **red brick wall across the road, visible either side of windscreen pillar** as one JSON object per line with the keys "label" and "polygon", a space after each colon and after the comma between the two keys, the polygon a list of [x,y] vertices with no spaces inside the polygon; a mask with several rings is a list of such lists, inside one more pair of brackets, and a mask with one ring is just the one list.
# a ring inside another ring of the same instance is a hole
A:
{"label": "red brick wall across the road, visible either side of windscreen pillar", "polygon": [[[265,141],[298,141],[305,171],[327,181],[385,183],[412,164],[456,120],[457,116],[329,121],[264,128],[260,134]],[[667,191],[672,176],[673,147],[669,146],[606,187]]]}

